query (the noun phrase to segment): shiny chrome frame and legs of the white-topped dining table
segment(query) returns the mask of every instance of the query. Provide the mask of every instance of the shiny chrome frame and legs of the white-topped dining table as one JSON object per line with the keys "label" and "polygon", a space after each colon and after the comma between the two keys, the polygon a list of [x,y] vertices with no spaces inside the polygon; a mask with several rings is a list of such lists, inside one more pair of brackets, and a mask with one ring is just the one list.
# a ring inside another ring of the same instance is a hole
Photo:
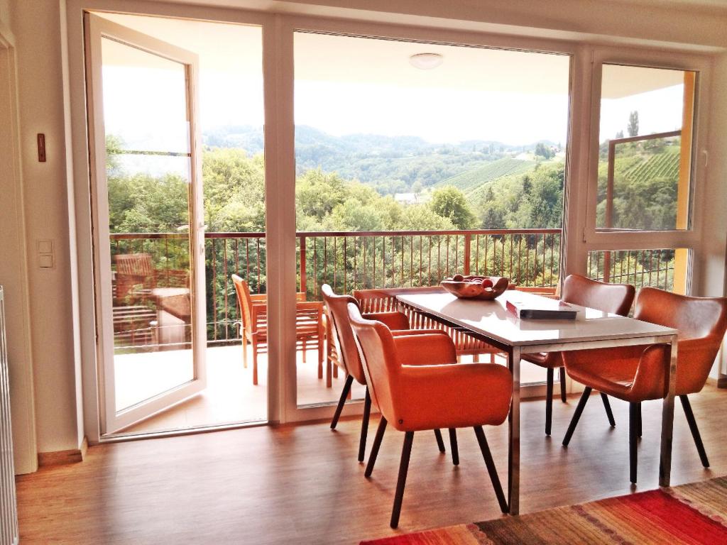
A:
{"label": "shiny chrome frame and legs of the white-topped dining table", "polygon": [[568,350],[590,350],[595,348],[616,348],[638,346],[640,344],[669,344],[671,357],[669,366],[669,391],[662,403],[662,440],[659,458],[659,486],[669,486],[672,464],[672,432],[674,424],[674,395],[676,389],[677,368],[677,334],[657,334],[634,336],[621,339],[593,339],[571,342],[542,342],[541,344],[515,345],[502,342],[484,334],[473,331],[464,323],[459,323],[453,316],[443,316],[431,312],[431,309],[419,306],[411,301],[403,300],[406,295],[397,296],[402,307],[418,312],[443,323],[451,328],[467,331],[468,335],[481,341],[493,344],[507,354],[507,366],[513,374],[513,400],[508,416],[510,444],[507,455],[507,505],[510,514],[520,512],[520,363],[523,354],[539,352],[566,352]]}

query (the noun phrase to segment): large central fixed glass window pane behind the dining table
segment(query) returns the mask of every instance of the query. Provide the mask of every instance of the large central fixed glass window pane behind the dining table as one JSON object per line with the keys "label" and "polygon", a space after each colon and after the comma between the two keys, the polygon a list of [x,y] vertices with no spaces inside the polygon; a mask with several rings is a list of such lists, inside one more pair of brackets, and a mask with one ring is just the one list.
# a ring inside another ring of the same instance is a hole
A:
{"label": "large central fixed glass window pane behind the dining table", "polygon": [[[294,76],[297,290],[308,302],[327,283],[389,309],[377,290],[437,289],[455,274],[555,293],[569,55],[300,31]],[[462,360],[504,362],[453,337]],[[322,365],[313,344],[289,362],[299,407],[338,401],[345,377],[328,341]],[[523,364],[524,384],[542,382],[545,370]],[[364,391],[354,384],[351,399]]]}

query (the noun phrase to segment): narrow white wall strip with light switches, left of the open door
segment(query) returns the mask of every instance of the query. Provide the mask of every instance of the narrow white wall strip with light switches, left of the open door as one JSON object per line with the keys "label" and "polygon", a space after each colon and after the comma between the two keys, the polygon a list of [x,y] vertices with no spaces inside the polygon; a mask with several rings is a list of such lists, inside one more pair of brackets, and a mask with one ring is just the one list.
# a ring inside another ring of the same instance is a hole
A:
{"label": "narrow white wall strip with light switches, left of the open door", "polygon": [[[7,5],[7,0],[4,0]],[[65,162],[61,10],[57,1],[12,0],[20,96],[20,153],[25,194],[33,383],[39,452],[79,448],[74,286]],[[37,158],[44,133],[47,162]],[[50,239],[55,266],[37,265],[36,241]]]}

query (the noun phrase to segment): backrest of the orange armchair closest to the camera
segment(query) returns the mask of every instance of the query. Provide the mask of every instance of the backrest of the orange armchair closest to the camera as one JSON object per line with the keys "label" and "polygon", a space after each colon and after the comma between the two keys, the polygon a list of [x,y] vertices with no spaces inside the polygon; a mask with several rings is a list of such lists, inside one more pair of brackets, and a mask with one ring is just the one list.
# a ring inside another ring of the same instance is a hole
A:
{"label": "backrest of the orange armchair closest to the camera", "polygon": [[[401,371],[391,331],[381,322],[363,318],[355,302],[348,303],[346,307],[350,327],[364,358],[363,368],[371,401],[386,419],[391,419],[395,414],[396,401],[393,392],[398,390]],[[405,401],[402,400],[402,403]]]}

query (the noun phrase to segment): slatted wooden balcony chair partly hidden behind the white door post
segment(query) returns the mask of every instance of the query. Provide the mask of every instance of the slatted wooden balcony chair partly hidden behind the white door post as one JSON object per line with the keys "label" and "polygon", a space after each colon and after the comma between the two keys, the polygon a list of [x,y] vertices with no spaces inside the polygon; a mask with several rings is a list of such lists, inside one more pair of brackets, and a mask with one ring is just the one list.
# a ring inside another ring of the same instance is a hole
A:
{"label": "slatted wooden balcony chair partly hidden behind the white door post", "polygon": [[[257,385],[257,356],[268,351],[268,297],[250,294],[245,280],[232,275],[240,312],[240,336],[242,338],[243,365],[247,368],[247,345],[252,345],[252,384]],[[305,301],[305,294],[298,293],[295,304],[295,345],[302,351],[303,363],[308,349],[318,350],[318,378],[323,376],[324,327],[323,303]]]}

